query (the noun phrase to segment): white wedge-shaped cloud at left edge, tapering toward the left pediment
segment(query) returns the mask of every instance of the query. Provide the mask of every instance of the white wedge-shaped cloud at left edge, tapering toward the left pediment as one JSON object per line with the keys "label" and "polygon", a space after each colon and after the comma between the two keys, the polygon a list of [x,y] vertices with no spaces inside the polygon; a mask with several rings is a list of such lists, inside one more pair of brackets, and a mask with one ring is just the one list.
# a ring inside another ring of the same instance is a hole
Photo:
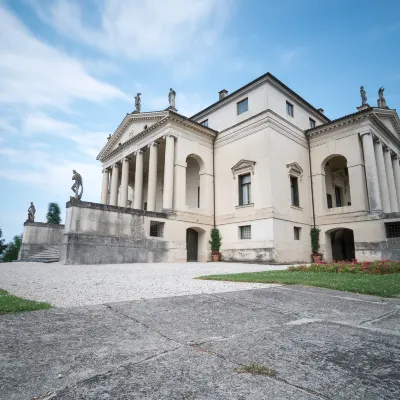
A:
{"label": "white wedge-shaped cloud at left edge, tapering toward the left pediment", "polygon": [[1,5],[0,20],[0,103],[65,109],[75,100],[129,100],[78,60],[36,39]]}

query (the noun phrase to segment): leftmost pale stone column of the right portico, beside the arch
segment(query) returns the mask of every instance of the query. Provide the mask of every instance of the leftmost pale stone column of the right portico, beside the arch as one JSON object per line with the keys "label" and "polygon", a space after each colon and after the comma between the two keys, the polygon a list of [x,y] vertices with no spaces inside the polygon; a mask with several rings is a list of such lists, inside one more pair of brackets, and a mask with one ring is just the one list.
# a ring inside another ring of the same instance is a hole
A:
{"label": "leftmost pale stone column of the right portico, beside the arch", "polygon": [[[372,133],[366,132],[362,134],[361,137],[364,150],[365,175],[367,177],[369,207],[371,211],[381,212],[382,203]],[[353,196],[355,195],[356,194],[354,193]]]}

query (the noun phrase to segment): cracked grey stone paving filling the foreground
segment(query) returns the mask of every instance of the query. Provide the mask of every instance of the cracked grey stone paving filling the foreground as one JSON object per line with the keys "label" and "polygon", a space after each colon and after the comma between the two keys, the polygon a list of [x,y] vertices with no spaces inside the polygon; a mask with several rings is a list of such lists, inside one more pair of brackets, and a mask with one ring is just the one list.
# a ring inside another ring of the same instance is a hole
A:
{"label": "cracked grey stone paving filling the foreground", "polygon": [[279,286],[0,315],[0,398],[398,400],[399,310]]}

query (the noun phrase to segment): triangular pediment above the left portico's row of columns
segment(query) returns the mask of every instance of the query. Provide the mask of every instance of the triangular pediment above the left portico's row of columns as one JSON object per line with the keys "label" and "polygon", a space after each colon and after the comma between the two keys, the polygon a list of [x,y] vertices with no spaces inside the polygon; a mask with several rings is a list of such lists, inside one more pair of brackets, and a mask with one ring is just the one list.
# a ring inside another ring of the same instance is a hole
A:
{"label": "triangular pediment above the left portico's row of columns", "polygon": [[108,138],[97,159],[100,160],[106,157],[123,143],[150,128],[167,115],[168,112],[166,111],[127,114],[115,132]]}

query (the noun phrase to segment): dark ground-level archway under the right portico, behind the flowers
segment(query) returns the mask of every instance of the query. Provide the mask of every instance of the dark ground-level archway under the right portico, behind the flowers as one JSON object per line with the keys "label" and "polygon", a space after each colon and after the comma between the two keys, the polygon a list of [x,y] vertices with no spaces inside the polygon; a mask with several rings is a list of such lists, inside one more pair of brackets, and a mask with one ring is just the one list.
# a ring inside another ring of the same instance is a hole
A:
{"label": "dark ground-level archway under the right portico, behind the flowers", "polygon": [[326,232],[326,258],[329,261],[352,261],[356,258],[352,229],[338,228]]}

